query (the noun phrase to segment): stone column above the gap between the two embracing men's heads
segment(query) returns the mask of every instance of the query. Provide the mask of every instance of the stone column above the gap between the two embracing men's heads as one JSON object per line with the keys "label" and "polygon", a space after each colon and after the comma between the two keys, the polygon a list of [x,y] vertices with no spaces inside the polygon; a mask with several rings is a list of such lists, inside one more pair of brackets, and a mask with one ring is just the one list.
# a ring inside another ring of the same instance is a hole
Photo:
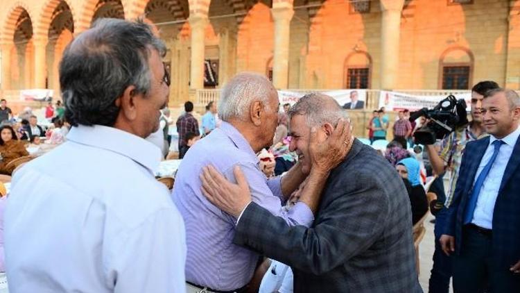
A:
{"label": "stone column above the gap between the two embracing men's heads", "polygon": [[289,78],[289,37],[293,5],[277,2],[272,5],[272,19],[275,21],[275,56],[272,64],[272,84],[277,89],[286,89]]}

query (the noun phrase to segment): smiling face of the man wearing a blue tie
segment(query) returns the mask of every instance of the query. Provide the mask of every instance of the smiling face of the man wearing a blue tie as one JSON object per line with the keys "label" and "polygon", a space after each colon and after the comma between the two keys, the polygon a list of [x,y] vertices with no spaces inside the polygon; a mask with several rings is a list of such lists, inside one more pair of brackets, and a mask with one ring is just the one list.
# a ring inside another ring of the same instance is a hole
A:
{"label": "smiling face of the man wearing a blue tie", "polygon": [[482,121],[486,132],[501,139],[518,128],[520,107],[511,107],[505,92],[497,92],[482,103]]}

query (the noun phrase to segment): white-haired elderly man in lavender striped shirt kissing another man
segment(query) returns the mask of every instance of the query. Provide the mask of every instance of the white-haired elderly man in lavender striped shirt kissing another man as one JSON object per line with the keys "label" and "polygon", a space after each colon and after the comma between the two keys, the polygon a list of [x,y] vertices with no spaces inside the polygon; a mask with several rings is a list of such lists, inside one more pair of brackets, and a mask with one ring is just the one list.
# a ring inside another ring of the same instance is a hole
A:
{"label": "white-haired elderly man in lavender striped shirt kissing another man", "polygon": [[[175,178],[173,201],[184,218],[188,255],[188,292],[243,292],[259,260],[259,254],[232,243],[236,215],[212,205],[202,195],[200,174],[211,165],[234,180],[240,167],[250,183],[252,200],[283,221],[286,226],[309,226],[326,174],[347,153],[349,136],[345,122],[331,128],[335,136],[314,143],[306,160],[315,161],[312,171],[297,164],[283,178],[269,180],[259,169],[256,153],[272,144],[277,127],[278,94],[265,76],[242,73],[222,90],[218,115],[220,127],[193,147],[184,157]],[[333,154],[331,156],[330,154]],[[303,160],[303,158],[302,158]],[[282,209],[288,196],[307,178],[309,188],[289,211]]]}

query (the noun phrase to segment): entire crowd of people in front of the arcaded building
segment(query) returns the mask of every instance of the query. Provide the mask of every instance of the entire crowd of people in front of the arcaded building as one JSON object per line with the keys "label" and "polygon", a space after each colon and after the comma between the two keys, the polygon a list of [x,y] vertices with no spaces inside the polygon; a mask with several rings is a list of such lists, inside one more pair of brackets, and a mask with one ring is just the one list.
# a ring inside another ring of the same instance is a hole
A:
{"label": "entire crowd of people in front of the arcaded building", "polygon": [[[428,210],[430,292],[448,292],[452,276],[455,292],[520,292],[516,92],[477,83],[471,122],[424,149],[408,147],[428,121],[399,112],[377,151],[352,134],[356,97],[281,106],[265,76],[243,72],[202,128],[184,103],[168,190],[155,177],[174,123],[165,54],[148,24],[121,19],[98,20],[65,49],[70,130],[57,109],[46,114],[67,139],[15,172],[0,219],[10,292],[423,292],[413,225]],[[3,113],[12,118],[0,103]],[[24,155],[12,144],[24,133],[37,144],[45,131],[31,119],[0,128],[2,156]],[[371,142],[389,120],[374,111]]]}

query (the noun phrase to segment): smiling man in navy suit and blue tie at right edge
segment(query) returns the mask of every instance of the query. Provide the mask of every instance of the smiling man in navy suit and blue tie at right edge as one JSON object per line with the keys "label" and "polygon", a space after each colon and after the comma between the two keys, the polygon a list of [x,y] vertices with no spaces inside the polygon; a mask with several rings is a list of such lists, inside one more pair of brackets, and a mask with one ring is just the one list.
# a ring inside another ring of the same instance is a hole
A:
{"label": "smiling man in navy suit and blue tie at right edge", "polygon": [[455,292],[520,292],[520,97],[490,90],[482,109],[490,136],[466,146],[440,243]]}

